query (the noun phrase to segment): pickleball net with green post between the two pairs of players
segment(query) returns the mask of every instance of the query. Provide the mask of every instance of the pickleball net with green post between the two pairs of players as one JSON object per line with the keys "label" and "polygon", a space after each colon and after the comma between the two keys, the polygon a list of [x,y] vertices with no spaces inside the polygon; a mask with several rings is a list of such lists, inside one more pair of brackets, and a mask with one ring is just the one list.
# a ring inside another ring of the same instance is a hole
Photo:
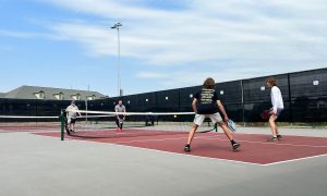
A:
{"label": "pickleball net with green post between the two pairs of players", "polygon": [[[72,112],[72,111],[71,111]],[[194,112],[107,112],[75,110],[77,117],[74,132],[69,131],[65,114],[62,119],[61,138],[118,138],[155,135],[185,134],[191,130]],[[124,115],[123,128],[120,131],[116,123],[117,115]],[[217,131],[217,125],[207,119],[198,133]]]}

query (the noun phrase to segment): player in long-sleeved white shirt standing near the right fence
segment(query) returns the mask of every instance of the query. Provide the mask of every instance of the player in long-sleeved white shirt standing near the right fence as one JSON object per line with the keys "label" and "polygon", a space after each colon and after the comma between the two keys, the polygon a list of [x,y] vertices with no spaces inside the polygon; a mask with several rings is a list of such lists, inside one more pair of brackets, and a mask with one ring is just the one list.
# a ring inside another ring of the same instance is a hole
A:
{"label": "player in long-sleeved white shirt standing near the right fence", "polygon": [[281,135],[279,134],[278,127],[276,125],[276,119],[280,115],[283,110],[283,101],[280,89],[277,87],[277,79],[275,77],[266,78],[266,85],[271,87],[271,105],[270,109],[270,118],[269,118],[269,126],[272,133],[272,137],[268,139],[268,142],[275,142],[281,139]]}

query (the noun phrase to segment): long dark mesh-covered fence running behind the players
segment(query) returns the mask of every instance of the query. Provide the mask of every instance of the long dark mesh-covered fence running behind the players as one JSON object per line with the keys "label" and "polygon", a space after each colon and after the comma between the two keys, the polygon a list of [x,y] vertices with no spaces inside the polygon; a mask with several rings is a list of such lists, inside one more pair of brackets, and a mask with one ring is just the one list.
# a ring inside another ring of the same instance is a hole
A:
{"label": "long dark mesh-covered fence running behind the players", "polygon": [[[327,69],[275,75],[279,81],[284,111],[279,121],[327,122]],[[237,122],[262,122],[261,113],[271,107],[270,88],[257,77],[216,84],[219,99],[228,115]],[[242,91],[243,87],[243,91]],[[121,99],[128,111],[189,112],[193,96],[202,86],[169,89],[120,98],[76,101],[81,110],[113,111]],[[243,94],[242,94],[243,93]],[[243,97],[242,97],[243,95]],[[35,100],[0,98],[1,115],[59,115],[68,100]]]}

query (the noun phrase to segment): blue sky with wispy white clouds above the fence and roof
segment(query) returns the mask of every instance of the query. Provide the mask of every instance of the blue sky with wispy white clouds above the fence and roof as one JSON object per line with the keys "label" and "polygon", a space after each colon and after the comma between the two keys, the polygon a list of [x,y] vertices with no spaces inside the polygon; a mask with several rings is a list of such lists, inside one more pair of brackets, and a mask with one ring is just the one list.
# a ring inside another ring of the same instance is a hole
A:
{"label": "blue sky with wispy white clouds above the fence and roof", "polygon": [[125,95],[327,68],[326,0],[0,0],[0,91]]}

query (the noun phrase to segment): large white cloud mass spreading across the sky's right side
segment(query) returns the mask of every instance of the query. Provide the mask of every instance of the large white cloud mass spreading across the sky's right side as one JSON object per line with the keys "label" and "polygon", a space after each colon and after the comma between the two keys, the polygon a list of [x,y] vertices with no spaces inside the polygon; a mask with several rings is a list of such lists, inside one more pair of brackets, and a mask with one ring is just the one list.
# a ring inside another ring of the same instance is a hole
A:
{"label": "large white cloud mass spreading across the sky's right side", "polygon": [[[209,73],[227,81],[326,66],[327,1],[323,0],[190,0],[181,1],[184,7],[177,10],[132,0],[44,2],[81,16],[47,26],[55,36],[82,45],[88,54],[117,56],[117,32],[109,27],[121,21],[122,58],[158,69],[192,68],[187,73],[141,70],[137,78],[196,84]],[[100,22],[87,22],[85,15]],[[208,68],[213,72],[206,72]]]}

